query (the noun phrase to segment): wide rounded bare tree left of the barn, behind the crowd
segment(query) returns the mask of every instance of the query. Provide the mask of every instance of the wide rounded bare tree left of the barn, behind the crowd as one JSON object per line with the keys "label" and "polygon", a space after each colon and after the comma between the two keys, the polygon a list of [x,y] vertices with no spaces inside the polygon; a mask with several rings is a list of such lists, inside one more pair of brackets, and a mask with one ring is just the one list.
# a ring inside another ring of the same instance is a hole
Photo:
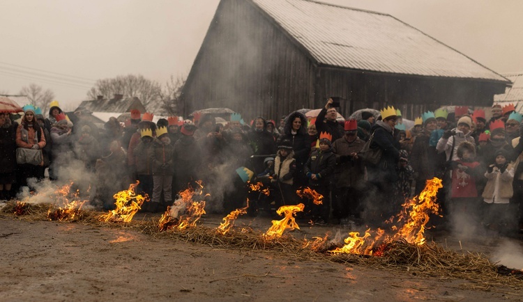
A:
{"label": "wide rounded bare tree left of the barn, behind the crowd", "polygon": [[162,86],[156,81],[144,78],[142,75],[128,74],[113,79],[100,79],[89,92],[87,97],[96,100],[98,95],[105,99],[112,98],[115,94],[123,97],[138,97],[142,104],[148,108],[151,102],[158,102],[162,95]]}

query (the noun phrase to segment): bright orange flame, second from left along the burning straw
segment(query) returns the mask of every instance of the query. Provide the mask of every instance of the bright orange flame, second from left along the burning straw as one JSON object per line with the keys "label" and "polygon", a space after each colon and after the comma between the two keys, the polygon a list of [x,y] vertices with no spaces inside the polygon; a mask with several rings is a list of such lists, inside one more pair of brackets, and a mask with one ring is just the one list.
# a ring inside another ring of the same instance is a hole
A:
{"label": "bright orange flame, second from left along the burning straw", "polygon": [[115,200],[116,209],[110,210],[107,214],[100,216],[100,221],[123,221],[130,222],[132,217],[138,212],[139,209],[142,209],[144,201],[149,201],[149,196],[145,194],[142,196],[140,194],[135,194],[135,187],[139,184],[130,184],[128,190],[119,191],[114,194],[113,198]]}

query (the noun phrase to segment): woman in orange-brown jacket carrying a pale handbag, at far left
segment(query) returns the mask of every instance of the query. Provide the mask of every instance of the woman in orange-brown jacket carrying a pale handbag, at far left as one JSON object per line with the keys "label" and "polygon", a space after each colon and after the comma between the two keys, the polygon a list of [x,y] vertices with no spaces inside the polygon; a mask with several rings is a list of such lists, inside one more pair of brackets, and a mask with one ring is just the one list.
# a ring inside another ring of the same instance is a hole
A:
{"label": "woman in orange-brown jacket carrying a pale handbag, at far left", "polygon": [[[18,148],[42,150],[45,147],[45,135],[35,118],[35,109],[31,105],[24,106],[24,117],[16,130],[16,145]],[[20,185],[26,186],[27,179],[41,175],[43,158],[40,164],[20,165]]]}

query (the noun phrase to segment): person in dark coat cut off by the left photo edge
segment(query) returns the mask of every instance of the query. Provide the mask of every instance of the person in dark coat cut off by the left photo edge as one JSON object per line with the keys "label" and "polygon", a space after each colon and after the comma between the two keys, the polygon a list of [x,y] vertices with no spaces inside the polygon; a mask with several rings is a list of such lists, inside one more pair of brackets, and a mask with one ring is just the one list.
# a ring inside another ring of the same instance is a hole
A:
{"label": "person in dark coat cut off by the left photo edge", "polygon": [[16,129],[10,113],[0,112],[0,200],[10,200],[16,182]]}

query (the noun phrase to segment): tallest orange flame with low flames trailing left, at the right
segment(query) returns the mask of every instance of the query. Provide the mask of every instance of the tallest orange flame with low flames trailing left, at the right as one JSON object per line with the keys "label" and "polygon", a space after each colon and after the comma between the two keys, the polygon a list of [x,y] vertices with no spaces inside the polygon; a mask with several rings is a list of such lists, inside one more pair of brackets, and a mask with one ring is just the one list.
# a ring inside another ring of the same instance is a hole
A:
{"label": "tallest orange flame with low flames trailing left, at the right", "polygon": [[442,187],[439,178],[434,177],[432,180],[427,180],[425,189],[420,193],[419,198],[416,196],[405,202],[400,214],[395,216],[397,223],[402,223],[402,225],[400,228],[395,225],[391,228],[397,231],[394,235],[384,237],[385,231],[381,229],[377,229],[374,238],[371,238],[370,229],[365,231],[363,237],[360,237],[359,232],[350,232],[349,237],[344,240],[345,245],[330,253],[372,255],[374,246],[381,242],[377,247],[377,252],[374,253],[374,255],[381,255],[388,243],[400,239],[418,246],[425,244],[425,225],[427,225],[431,213],[438,214],[439,206],[436,203],[436,194]]}

